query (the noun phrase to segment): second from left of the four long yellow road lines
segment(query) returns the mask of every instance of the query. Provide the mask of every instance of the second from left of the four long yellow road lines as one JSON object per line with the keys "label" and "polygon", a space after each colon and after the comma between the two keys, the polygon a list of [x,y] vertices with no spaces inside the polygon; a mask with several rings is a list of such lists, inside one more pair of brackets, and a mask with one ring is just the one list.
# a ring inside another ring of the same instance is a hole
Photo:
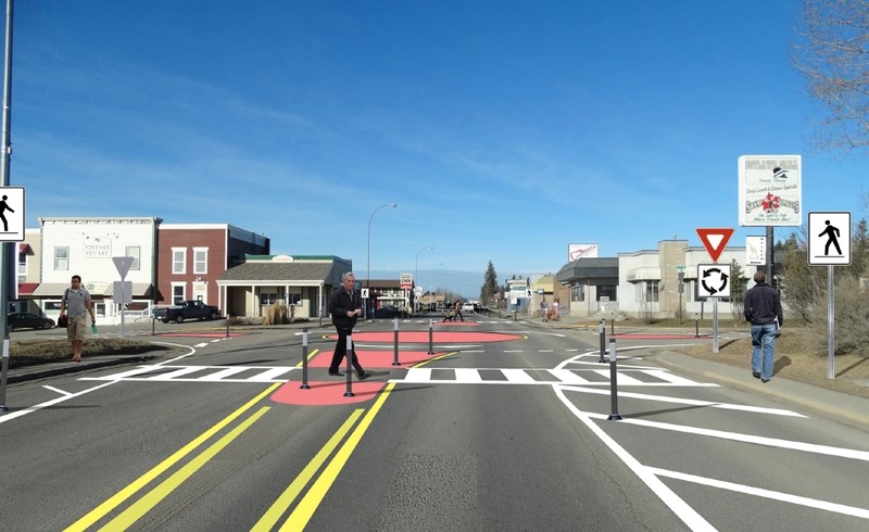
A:
{"label": "second from left of the four long yellow road lines", "polygon": [[144,494],[139,501],[130,505],[129,508],[121,512],[119,516],[112,519],[105,527],[101,528],[100,530],[106,531],[115,531],[115,530],[127,530],[129,527],[133,525],[136,521],[138,521],[142,516],[148,514],[154,506],[156,506],[161,501],[166,498],[175,489],[177,489],[184,481],[189,479],[194,472],[197,472],[202,466],[207,464],[207,461],[214,456],[223,451],[227,445],[232,443],[232,441],[241,435],[242,432],[248,430],[257,419],[263,417],[266,411],[268,411],[272,407],[264,406],[260,408],[257,411],[251,415],[248,419],[240,422],[238,427],[229,431],[225,436],[221,438],[216,442],[214,442],[209,448],[203,451],[199,454],[196,458],[187,463],[182,468],[178,469],[173,473],[168,479],[161,482],[156,487]]}

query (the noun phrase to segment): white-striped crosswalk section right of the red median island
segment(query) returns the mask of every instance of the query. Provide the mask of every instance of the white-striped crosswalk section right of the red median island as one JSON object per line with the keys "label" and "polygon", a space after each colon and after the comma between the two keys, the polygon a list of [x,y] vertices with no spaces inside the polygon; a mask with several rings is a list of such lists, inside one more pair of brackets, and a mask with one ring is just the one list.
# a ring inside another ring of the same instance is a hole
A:
{"label": "white-striped crosswalk section right of the red median island", "polygon": [[[395,383],[427,384],[572,384],[608,387],[609,369],[534,368],[410,368]],[[619,387],[715,387],[673,375],[665,369],[624,369],[616,372]]]}

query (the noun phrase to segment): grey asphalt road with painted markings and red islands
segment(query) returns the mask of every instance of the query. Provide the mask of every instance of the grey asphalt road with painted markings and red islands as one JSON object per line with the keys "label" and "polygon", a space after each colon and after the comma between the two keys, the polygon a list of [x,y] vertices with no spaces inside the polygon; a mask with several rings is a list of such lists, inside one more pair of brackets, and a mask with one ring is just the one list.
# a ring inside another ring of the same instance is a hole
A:
{"label": "grey asphalt road with painted markings and red islands", "polygon": [[619,341],[614,405],[596,334],[476,320],[436,325],[436,355],[427,322],[402,322],[401,366],[392,321],[362,325],[374,377],[353,397],[326,375],[331,330],[313,327],[311,390],[300,390],[302,338],[287,329],[161,337],[182,354],[12,384],[0,525],[869,525],[865,431],[656,367],[643,354],[659,341]]}

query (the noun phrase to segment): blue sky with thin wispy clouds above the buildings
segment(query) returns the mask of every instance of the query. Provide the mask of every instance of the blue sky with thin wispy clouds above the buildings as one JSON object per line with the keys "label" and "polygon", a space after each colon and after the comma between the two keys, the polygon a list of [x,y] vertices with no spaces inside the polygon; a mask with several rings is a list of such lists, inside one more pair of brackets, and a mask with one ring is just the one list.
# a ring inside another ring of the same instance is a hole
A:
{"label": "blue sky with thin wispy clouds above the buildings", "polygon": [[555,273],[570,243],[615,256],[733,227],[744,245],[763,235],[738,227],[744,154],[802,154],[804,213],[856,221],[866,159],[813,142],[797,10],[18,1],[10,185],[28,227],[229,223],[363,275],[369,217],[395,202],[370,218],[373,274],[454,270],[432,283],[465,295],[490,261],[502,279]]}

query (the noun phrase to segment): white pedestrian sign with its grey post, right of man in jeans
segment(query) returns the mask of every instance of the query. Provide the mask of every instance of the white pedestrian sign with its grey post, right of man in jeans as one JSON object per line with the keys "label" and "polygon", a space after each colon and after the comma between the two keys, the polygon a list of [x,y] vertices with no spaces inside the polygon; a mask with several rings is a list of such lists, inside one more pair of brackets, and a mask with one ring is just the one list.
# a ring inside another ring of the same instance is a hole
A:
{"label": "white pedestrian sign with its grey post, right of man in jeans", "polygon": [[851,264],[851,213],[808,213],[808,264],[827,265],[827,378],[835,379],[833,266]]}

